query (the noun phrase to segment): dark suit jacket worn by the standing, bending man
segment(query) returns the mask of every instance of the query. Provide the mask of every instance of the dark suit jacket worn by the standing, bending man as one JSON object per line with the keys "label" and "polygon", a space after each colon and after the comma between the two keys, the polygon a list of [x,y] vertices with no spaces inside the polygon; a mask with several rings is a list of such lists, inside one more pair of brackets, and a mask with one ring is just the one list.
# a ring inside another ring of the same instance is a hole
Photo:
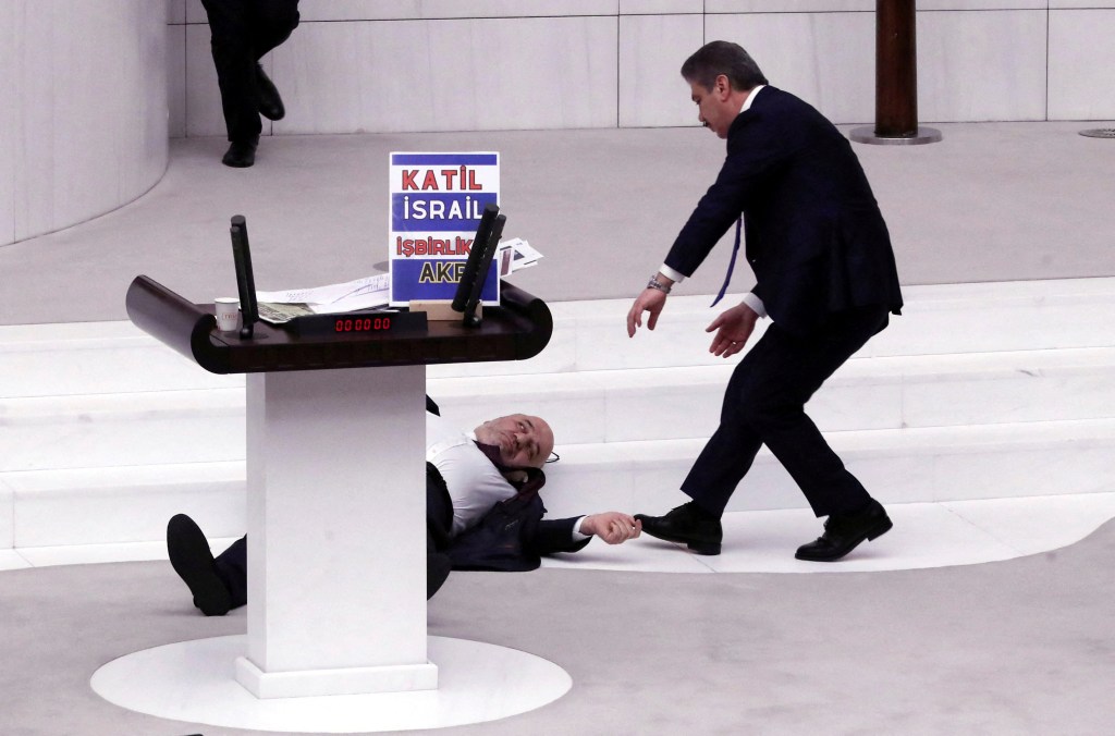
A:
{"label": "dark suit jacket worn by the standing, bending man", "polygon": [[728,129],[728,154],[666,264],[691,275],[743,213],[756,296],[777,325],[804,332],[831,312],[899,313],[886,223],[851,144],[821,113],[775,87]]}

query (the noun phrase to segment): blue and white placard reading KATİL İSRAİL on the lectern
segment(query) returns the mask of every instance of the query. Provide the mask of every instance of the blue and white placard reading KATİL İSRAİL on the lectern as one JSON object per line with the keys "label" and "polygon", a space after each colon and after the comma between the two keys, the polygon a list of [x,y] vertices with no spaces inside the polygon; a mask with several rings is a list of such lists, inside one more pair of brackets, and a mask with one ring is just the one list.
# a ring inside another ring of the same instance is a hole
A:
{"label": "blue and white placard reading KAT\u0130L \u0130SRA\u0130L on the lectern", "polygon": [[[489,202],[500,203],[498,153],[392,153],[391,306],[453,299]],[[497,269],[482,301],[500,303]]]}

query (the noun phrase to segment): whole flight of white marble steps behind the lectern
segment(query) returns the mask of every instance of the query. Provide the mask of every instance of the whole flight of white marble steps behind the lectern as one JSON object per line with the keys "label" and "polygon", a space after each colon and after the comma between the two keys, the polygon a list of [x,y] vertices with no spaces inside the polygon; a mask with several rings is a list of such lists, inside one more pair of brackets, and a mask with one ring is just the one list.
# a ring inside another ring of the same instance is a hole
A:
{"label": "whole flight of white marble steps behind the lectern", "polygon": [[[905,294],[904,316],[811,404],[873,493],[1115,488],[1115,279]],[[633,340],[627,300],[555,303],[541,356],[434,366],[429,390],[464,425],[522,408],[550,418],[563,456],[553,514],[665,511],[731,369],[707,352],[708,301],[671,297],[659,329]],[[0,327],[0,548],[157,541],[178,511],[235,536],[243,456],[243,377],[207,374],[127,322]],[[763,453],[733,509],[802,504]]]}

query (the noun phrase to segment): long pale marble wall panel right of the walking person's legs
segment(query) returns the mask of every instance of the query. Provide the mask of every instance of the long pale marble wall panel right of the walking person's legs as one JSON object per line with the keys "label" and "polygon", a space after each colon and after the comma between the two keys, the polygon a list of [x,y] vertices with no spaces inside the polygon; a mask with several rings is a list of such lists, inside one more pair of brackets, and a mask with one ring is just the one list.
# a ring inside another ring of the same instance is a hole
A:
{"label": "long pale marble wall panel right of the walking person's legs", "polygon": [[307,23],[273,57],[279,133],[617,124],[618,18]]}

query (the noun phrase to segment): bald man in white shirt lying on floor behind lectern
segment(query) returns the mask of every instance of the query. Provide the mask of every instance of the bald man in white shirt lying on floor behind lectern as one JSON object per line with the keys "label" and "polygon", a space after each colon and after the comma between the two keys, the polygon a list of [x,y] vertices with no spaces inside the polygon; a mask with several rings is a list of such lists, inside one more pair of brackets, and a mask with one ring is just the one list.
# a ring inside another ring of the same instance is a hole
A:
{"label": "bald man in white shirt lying on floor behind lectern", "polygon": [[[513,414],[462,432],[426,397],[426,598],[450,570],[534,570],[540,556],[575,552],[599,536],[621,544],[641,522],[609,511],[545,520],[537,491],[554,447],[540,417]],[[202,530],[178,514],[166,526],[171,564],[205,616],[248,602],[248,546],[241,538],[216,559]]]}

